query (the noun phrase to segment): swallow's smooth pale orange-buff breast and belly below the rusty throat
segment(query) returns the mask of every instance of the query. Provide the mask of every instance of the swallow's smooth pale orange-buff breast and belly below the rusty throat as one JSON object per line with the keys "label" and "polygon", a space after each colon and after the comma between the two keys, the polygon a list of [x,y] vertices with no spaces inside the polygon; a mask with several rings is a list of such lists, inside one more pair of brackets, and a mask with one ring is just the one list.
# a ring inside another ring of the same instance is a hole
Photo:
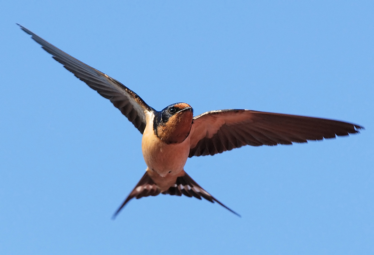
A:
{"label": "swallow's smooth pale orange-buff breast and belly below the rusty throat", "polygon": [[157,172],[161,177],[182,172],[190,153],[190,137],[179,144],[166,144],[154,135],[153,129],[147,131],[146,127],[142,152],[149,170]]}

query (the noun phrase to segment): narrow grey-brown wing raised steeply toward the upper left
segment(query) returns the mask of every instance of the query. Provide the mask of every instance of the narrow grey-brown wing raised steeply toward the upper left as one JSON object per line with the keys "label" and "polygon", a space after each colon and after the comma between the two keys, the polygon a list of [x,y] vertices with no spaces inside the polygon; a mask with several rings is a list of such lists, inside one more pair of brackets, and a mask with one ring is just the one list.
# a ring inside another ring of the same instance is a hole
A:
{"label": "narrow grey-brown wing raised steeply toward the upper left", "polygon": [[154,109],[147,105],[140,96],[119,81],[73,58],[27,28],[21,25],[19,27],[30,34],[32,39],[42,45],[42,48],[52,54],[53,58],[63,64],[67,70],[104,98],[109,99],[143,133],[146,124],[145,112],[154,112]]}

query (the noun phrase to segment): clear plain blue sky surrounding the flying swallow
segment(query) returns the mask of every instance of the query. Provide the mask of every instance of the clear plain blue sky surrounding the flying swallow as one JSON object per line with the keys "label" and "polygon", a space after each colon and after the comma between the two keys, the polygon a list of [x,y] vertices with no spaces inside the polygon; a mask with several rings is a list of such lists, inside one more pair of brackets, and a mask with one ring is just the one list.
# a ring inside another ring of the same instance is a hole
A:
{"label": "clear plain blue sky surrounding the flying swallow", "polygon": [[[0,254],[374,254],[373,1],[2,1]],[[188,159],[218,200],[111,216],[141,134],[24,25],[161,110],[245,108],[365,127]]]}

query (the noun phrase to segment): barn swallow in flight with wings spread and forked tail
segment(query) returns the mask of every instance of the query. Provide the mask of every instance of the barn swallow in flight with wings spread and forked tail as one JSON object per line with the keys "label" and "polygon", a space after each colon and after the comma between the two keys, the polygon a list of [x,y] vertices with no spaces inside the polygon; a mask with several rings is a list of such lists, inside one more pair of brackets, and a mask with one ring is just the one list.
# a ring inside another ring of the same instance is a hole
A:
{"label": "barn swallow in flight with wings spread and forked tail", "polygon": [[113,217],[134,197],[139,199],[160,193],[203,197],[240,216],[184,171],[188,157],[214,155],[243,145],[292,144],[335,138],[363,129],[337,120],[252,110],[208,111],[193,117],[192,107],[182,102],[156,111],[119,81],[73,58],[27,28],[19,27],[68,71],[109,99],[143,135],[142,153],[147,169]]}

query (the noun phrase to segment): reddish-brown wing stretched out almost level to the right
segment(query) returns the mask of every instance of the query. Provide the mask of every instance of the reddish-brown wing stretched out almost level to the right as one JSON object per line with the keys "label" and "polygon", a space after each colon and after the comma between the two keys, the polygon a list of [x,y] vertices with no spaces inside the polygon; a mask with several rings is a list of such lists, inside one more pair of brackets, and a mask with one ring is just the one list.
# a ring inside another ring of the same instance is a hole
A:
{"label": "reddish-brown wing stretched out almost level to the right", "polygon": [[193,118],[189,157],[243,145],[277,145],[335,138],[363,127],[338,120],[251,110],[208,111]]}

